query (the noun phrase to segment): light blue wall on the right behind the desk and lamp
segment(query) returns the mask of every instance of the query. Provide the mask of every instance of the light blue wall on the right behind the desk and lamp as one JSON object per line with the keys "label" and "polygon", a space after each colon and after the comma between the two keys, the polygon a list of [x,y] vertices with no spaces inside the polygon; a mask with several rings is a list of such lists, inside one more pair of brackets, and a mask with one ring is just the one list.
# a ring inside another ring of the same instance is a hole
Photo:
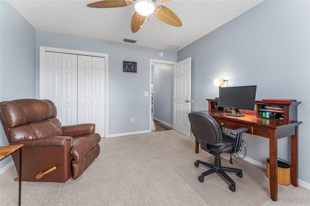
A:
{"label": "light blue wall on the right behind the desk and lamp", "polygon": [[[207,110],[206,98],[218,96],[216,78],[225,86],[257,85],[256,99],[291,98],[298,106],[299,178],[310,182],[309,1],[265,1],[178,52],[192,57],[192,111]],[[245,135],[246,156],[266,163],[269,141]],[[278,157],[290,160],[290,138],[278,140]]]}

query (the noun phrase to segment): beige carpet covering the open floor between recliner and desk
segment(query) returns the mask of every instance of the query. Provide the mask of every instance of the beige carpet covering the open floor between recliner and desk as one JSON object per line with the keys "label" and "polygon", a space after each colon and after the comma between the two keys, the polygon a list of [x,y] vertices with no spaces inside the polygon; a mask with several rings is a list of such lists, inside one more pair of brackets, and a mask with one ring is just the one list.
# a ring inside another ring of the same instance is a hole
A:
{"label": "beige carpet covering the open floor between recliner and desk", "polygon": [[[99,157],[77,180],[22,182],[22,205],[207,205],[172,169],[211,156],[194,152],[193,137],[158,131],[103,138],[100,146]],[[0,205],[17,205],[16,177],[14,166],[0,175]],[[309,204],[308,189],[283,188],[277,202],[264,205]]]}

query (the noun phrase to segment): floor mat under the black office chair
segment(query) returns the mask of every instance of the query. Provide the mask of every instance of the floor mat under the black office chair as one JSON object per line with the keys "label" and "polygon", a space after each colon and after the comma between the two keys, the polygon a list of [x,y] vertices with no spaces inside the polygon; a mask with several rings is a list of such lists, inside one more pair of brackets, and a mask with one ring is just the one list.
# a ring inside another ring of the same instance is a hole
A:
{"label": "floor mat under the black office chair", "polygon": [[[214,157],[200,160],[214,164]],[[198,176],[210,168],[201,164],[195,167],[194,162],[195,160],[175,166],[173,170],[210,205],[230,205],[232,200],[235,205],[261,205],[270,199],[266,170],[257,165],[238,158],[234,158],[231,165],[227,159],[221,158],[222,166],[242,169],[242,178],[236,173],[226,172],[236,182],[236,191],[232,192],[228,188],[230,183],[217,173],[210,174],[205,177],[204,182],[199,182]],[[278,185],[278,192],[282,190],[283,187]]]}

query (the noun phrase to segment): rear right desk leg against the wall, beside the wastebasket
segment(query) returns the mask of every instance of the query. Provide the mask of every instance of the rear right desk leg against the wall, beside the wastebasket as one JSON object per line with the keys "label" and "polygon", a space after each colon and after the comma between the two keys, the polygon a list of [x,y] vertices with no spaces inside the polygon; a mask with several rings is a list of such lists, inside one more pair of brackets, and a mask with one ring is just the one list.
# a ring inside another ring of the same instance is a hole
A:
{"label": "rear right desk leg against the wall, beside the wastebasket", "polygon": [[298,187],[298,126],[295,135],[291,136],[291,178],[292,185]]}

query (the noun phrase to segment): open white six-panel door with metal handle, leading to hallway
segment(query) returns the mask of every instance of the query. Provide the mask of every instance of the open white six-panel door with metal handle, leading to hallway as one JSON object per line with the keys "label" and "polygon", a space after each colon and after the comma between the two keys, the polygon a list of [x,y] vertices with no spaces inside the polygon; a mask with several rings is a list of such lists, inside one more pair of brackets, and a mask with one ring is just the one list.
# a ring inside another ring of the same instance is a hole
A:
{"label": "open white six-panel door with metal handle, leading to hallway", "polygon": [[191,58],[173,65],[173,129],[190,136]]}

